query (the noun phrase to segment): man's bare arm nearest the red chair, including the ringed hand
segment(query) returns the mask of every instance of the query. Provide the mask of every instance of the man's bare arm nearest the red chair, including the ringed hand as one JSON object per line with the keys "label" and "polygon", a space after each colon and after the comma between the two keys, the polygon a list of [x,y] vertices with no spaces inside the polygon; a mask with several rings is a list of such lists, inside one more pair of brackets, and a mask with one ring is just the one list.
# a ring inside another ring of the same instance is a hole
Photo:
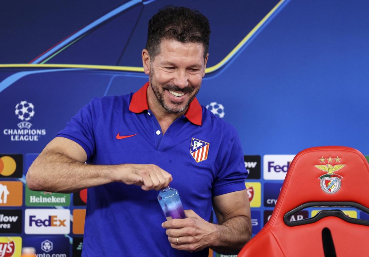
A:
{"label": "man's bare arm nearest the red chair, including the ringed hand", "polygon": [[221,254],[237,254],[251,239],[246,190],[215,196],[213,205],[218,224],[205,221],[192,210],[185,211],[186,219],[164,222],[170,245],[178,250],[200,251],[210,247]]}

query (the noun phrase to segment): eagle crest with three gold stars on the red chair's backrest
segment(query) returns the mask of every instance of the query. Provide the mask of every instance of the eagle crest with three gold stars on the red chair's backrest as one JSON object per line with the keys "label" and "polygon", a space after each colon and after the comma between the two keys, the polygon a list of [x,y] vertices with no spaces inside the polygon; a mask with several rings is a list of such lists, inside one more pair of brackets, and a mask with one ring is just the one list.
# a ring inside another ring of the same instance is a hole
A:
{"label": "eagle crest with three gold stars on the red chair's backrest", "polygon": [[[329,162],[333,163],[332,160],[335,160],[336,162],[339,162],[339,159],[341,159],[341,158],[338,158],[338,156],[337,156],[336,159],[333,159],[333,158],[330,157],[328,159],[328,164],[314,165],[316,168],[327,172],[327,174],[324,174],[323,176],[319,177],[320,187],[327,194],[334,194],[341,188],[342,176],[334,174],[334,172],[344,168],[346,165],[345,164],[336,164],[336,165],[332,166],[331,164],[329,164]],[[321,162],[325,162],[325,159],[323,158],[323,156],[320,160],[321,160]]]}

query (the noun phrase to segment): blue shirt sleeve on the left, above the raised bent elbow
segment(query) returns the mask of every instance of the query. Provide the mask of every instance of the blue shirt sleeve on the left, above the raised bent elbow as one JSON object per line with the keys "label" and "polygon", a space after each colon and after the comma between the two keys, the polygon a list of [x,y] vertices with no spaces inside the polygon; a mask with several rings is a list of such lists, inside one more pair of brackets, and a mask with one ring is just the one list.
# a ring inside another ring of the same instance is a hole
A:
{"label": "blue shirt sleeve on the left, above the raised bent elbow", "polygon": [[79,144],[87,154],[87,160],[95,152],[96,124],[100,114],[100,99],[94,98],[80,109],[67,123],[66,127],[56,134],[56,137],[65,137]]}

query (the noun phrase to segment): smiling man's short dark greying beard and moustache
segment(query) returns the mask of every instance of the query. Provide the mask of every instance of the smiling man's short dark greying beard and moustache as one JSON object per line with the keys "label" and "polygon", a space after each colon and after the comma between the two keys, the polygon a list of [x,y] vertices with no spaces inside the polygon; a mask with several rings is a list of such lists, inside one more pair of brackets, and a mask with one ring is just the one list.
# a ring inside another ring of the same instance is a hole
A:
{"label": "smiling man's short dark greying beard and moustache", "polygon": [[188,108],[188,106],[190,105],[190,103],[192,102],[192,100],[197,95],[197,93],[199,92],[199,89],[200,89],[200,86],[201,86],[200,85],[199,88],[196,89],[195,94],[189,99],[189,101],[184,106],[181,106],[183,103],[177,103],[177,102],[172,102],[172,101],[170,101],[170,103],[172,103],[172,105],[175,105],[175,106],[170,106],[164,101],[164,93],[165,93],[166,89],[171,90],[171,91],[175,91],[175,92],[182,92],[182,93],[189,93],[189,94],[192,94],[192,92],[195,89],[192,88],[192,87],[180,88],[180,87],[178,87],[176,85],[173,85],[173,84],[165,84],[165,85],[162,86],[162,92],[160,92],[159,85],[156,85],[152,82],[152,77],[154,75],[154,72],[152,70],[150,71],[150,74],[151,74],[151,76],[150,76],[150,85],[151,85],[152,91],[154,91],[154,95],[155,95],[156,99],[158,100],[158,102],[160,103],[160,105],[168,113],[180,113],[180,112],[183,112],[184,110],[186,110]]}

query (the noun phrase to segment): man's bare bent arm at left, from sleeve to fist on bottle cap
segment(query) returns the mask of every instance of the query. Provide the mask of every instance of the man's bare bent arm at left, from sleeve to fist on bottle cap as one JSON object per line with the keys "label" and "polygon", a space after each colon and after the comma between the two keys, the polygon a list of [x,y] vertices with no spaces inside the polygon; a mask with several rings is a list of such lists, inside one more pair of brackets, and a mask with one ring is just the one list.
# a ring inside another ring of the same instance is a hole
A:
{"label": "man's bare bent arm at left, from sleeve to fist on bottle cap", "polygon": [[147,191],[160,190],[172,181],[172,176],[156,165],[88,165],[86,159],[86,152],[79,144],[56,137],[28,169],[27,186],[35,191],[73,193],[87,187],[123,182]]}

